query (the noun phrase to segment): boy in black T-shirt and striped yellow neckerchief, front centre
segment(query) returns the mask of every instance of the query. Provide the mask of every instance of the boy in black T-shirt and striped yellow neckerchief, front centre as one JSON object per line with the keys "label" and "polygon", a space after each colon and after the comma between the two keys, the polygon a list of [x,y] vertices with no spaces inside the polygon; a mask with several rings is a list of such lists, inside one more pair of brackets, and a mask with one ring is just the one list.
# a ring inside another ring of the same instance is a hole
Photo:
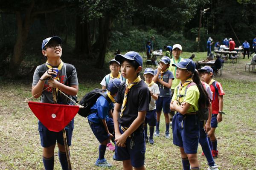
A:
{"label": "boy in black T-shirt and striped yellow neckerchief, front centre", "polygon": [[145,133],[143,122],[151,100],[146,83],[140,79],[143,59],[137,52],[117,54],[126,82],[119,86],[113,121],[116,135],[115,159],[125,170],[145,170]]}

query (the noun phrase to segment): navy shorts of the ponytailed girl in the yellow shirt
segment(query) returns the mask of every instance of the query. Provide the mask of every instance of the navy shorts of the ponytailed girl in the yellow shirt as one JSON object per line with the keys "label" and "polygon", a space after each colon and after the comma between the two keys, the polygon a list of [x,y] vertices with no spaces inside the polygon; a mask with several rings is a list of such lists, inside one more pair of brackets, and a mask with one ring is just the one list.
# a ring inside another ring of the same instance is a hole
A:
{"label": "navy shorts of the ponytailed girl in the yellow shirt", "polygon": [[182,115],[177,112],[172,119],[173,144],[183,147],[187,154],[197,153],[199,126],[197,115]]}

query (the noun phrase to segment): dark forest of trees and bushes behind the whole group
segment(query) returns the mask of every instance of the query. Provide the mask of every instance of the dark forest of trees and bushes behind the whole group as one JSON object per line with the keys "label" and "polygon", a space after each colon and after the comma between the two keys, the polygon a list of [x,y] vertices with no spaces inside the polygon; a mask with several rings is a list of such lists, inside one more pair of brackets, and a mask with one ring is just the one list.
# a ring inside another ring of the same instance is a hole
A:
{"label": "dark forest of trees and bushes behind the whole group", "polygon": [[42,40],[52,36],[62,38],[64,55],[93,61],[96,68],[102,68],[106,54],[116,49],[145,51],[151,35],[154,49],[179,43],[183,51],[194,52],[200,13],[206,8],[210,9],[202,15],[199,51],[207,51],[208,37],[214,44],[232,37],[236,47],[247,40],[252,50],[255,4],[255,0],[0,0],[0,76],[33,72],[32,65],[45,62]]}

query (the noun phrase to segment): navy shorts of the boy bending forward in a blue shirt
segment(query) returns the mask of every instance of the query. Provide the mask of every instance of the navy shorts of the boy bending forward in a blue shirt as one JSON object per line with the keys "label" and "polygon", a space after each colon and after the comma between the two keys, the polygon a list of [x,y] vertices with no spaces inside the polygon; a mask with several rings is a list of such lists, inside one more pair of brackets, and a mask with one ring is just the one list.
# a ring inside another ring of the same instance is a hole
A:
{"label": "navy shorts of the boy bending forward in a blue shirt", "polygon": [[[93,134],[98,139],[99,143],[104,142],[109,138],[109,134],[105,130],[105,128],[100,123],[94,123],[88,119],[89,125],[91,129],[93,130]],[[106,122],[108,126],[109,133],[113,133],[114,131],[114,122],[112,118],[108,118],[108,121]]]}

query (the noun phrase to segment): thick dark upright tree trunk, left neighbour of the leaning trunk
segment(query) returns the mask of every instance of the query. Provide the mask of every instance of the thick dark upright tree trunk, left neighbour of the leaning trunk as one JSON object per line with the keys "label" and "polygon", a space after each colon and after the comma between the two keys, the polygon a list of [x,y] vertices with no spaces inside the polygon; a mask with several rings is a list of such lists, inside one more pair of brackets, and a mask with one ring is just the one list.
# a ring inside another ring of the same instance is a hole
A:
{"label": "thick dark upright tree trunk, left neighbour of the leaning trunk", "polygon": [[92,52],[90,42],[90,24],[76,16],[76,46],[75,51],[82,54],[90,54]]}

